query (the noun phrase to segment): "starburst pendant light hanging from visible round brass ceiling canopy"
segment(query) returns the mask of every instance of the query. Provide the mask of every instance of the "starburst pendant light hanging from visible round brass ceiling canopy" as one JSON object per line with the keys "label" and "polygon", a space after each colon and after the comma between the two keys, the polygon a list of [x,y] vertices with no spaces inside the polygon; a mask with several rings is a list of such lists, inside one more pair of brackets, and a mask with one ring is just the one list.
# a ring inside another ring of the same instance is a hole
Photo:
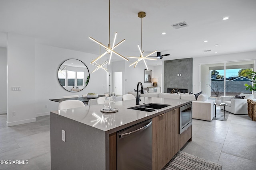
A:
{"label": "starburst pendant light hanging from visible round brass ceiling canopy", "polygon": [[[151,59],[151,58],[147,58],[148,56],[156,53],[157,51],[154,51],[152,53],[150,53],[149,55],[146,55],[145,57],[143,56],[143,52],[141,52],[141,49],[142,49],[142,18],[144,18],[146,16],[146,13],[145,12],[139,12],[138,13],[138,17],[141,18],[141,45],[139,46],[138,45],[138,48],[139,48],[139,51],[140,51],[140,57],[132,57],[132,56],[126,56],[127,58],[134,58],[134,59],[138,59],[137,61],[135,61],[134,63],[130,64],[130,66],[132,66],[134,64],[134,68],[136,67],[136,65],[138,64],[139,61],[144,61],[145,63],[145,66],[148,70],[148,66],[146,64],[146,61],[145,60],[156,60],[156,59]],[[141,48],[140,48],[141,47]]]}

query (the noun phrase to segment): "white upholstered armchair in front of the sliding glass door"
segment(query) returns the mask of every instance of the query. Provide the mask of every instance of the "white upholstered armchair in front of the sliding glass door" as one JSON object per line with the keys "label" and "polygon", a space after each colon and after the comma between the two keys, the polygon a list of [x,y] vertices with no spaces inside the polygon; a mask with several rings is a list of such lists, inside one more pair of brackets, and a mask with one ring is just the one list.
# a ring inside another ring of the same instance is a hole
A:
{"label": "white upholstered armchair in front of the sliding glass door", "polygon": [[[245,97],[244,99],[235,99],[234,96],[222,96],[220,97],[220,100],[222,103],[227,104],[227,106],[225,106],[226,111],[233,114],[248,115],[247,99],[253,99],[253,95],[241,93],[239,96]],[[224,109],[224,106],[221,106],[220,108]]]}

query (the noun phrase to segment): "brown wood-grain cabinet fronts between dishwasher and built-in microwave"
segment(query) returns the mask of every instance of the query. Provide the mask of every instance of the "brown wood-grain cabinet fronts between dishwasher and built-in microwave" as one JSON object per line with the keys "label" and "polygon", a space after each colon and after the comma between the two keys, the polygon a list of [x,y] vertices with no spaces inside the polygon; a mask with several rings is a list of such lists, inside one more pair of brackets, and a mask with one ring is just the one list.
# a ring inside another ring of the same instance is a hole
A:
{"label": "brown wood-grain cabinet fronts between dishwasher and built-in microwave", "polygon": [[192,140],[192,126],[179,134],[180,110],[152,118],[152,170],[160,170],[187,141]]}

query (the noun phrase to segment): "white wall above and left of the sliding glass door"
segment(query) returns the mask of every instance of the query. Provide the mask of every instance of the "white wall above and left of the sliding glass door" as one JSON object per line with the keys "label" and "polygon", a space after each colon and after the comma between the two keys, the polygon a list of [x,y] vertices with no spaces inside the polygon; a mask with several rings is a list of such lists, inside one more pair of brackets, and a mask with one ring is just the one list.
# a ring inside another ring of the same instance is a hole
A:
{"label": "white wall above and left of the sliding glass door", "polygon": [[[228,61],[242,61],[256,59],[256,51],[245,52],[245,53],[234,53],[227,55],[209,56],[209,57],[197,57],[193,58],[193,92],[200,92],[200,75],[199,75],[199,64],[209,63],[220,63]],[[254,66],[255,67],[255,66]],[[256,68],[254,68],[256,70]]]}

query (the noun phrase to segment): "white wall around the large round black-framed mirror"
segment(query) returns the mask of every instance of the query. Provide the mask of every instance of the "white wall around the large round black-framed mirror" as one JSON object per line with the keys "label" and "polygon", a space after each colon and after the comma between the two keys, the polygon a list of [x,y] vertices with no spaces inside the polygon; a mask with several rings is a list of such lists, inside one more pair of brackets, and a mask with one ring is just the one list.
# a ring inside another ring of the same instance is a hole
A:
{"label": "white wall around the large round black-framed mirror", "polygon": [[[92,73],[96,66],[90,64],[96,57],[98,55],[36,44],[36,115],[47,115],[50,111],[58,109],[58,102],[52,102],[49,99],[74,94],[80,97],[88,93],[104,94],[107,91],[106,72],[99,69]],[[67,59],[78,59],[84,62],[89,69],[89,83],[80,92],[68,92],[58,82],[58,68]],[[46,105],[48,108],[45,108]]]}

